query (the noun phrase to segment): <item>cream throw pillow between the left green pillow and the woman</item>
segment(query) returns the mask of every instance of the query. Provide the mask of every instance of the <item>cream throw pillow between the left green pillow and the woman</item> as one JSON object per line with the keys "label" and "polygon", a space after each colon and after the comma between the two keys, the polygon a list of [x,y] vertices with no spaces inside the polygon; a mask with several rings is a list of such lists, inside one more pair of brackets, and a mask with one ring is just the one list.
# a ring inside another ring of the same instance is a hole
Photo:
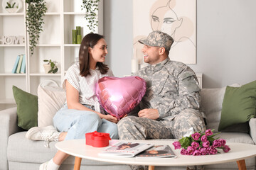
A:
{"label": "cream throw pillow between the left green pillow and the woman", "polygon": [[53,125],[53,116],[64,105],[65,91],[58,86],[38,86],[38,127]]}

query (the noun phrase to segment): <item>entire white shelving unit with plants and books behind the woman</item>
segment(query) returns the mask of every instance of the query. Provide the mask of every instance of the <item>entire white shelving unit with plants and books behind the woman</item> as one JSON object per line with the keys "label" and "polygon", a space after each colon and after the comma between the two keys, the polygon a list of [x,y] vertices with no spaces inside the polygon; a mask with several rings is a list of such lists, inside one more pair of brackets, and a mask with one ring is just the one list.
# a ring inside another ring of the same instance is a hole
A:
{"label": "entire white shelving unit with plants and books behind the woman", "polygon": [[[2,4],[0,0],[0,5]],[[78,58],[80,45],[72,44],[72,30],[81,26],[81,34],[90,33],[85,20],[85,12],[81,11],[82,0],[46,0],[48,11],[44,18],[43,32],[33,56],[29,52],[28,34],[26,33],[25,0],[17,13],[7,13],[0,7],[0,37],[25,37],[24,45],[0,44],[0,110],[16,106],[12,86],[37,95],[38,85],[46,80],[53,79],[61,84],[73,62]],[[96,33],[103,34],[103,1],[100,1],[98,12],[99,26]],[[26,73],[12,74],[17,55],[26,55]],[[56,74],[46,74],[43,69],[43,60],[58,62]],[[28,66],[28,67],[27,67]]]}

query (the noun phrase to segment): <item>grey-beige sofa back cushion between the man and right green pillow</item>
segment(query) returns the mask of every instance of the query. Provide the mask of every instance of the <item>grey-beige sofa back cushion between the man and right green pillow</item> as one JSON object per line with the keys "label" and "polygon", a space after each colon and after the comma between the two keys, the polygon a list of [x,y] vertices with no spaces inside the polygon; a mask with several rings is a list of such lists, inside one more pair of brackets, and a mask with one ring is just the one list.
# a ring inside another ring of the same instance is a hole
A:
{"label": "grey-beige sofa back cushion between the man and right green pillow", "polygon": [[[230,86],[239,87],[240,84],[232,84]],[[214,132],[218,132],[218,125],[220,124],[220,116],[223,98],[225,95],[225,89],[201,89],[201,108],[203,113],[206,114],[206,122],[208,129],[214,129]]]}

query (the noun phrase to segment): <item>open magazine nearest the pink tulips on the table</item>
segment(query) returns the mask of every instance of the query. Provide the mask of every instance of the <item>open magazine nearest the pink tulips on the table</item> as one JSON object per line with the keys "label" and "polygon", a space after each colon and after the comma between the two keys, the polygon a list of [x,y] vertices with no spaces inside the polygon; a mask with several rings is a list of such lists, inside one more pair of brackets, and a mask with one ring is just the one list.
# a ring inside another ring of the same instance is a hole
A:
{"label": "open magazine nearest the pink tulips on the table", "polygon": [[146,149],[144,152],[137,154],[136,158],[162,158],[162,157],[174,157],[176,155],[172,151],[169,145],[154,145],[149,149]]}

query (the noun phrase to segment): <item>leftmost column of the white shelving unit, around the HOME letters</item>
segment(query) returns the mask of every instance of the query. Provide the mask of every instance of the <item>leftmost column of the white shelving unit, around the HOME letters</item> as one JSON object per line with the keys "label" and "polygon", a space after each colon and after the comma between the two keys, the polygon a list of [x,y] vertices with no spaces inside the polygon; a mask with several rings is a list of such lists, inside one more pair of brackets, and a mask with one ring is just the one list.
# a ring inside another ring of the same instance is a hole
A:
{"label": "leftmost column of the white shelving unit, around the HOME letters", "polygon": [[0,0],[0,36],[21,35],[25,38],[25,43],[22,45],[0,44],[0,109],[16,106],[12,93],[13,85],[28,91],[28,75],[11,73],[17,55],[27,55],[25,10],[22,7],[18,13],[7,13],[2,6],[2,1]]}

